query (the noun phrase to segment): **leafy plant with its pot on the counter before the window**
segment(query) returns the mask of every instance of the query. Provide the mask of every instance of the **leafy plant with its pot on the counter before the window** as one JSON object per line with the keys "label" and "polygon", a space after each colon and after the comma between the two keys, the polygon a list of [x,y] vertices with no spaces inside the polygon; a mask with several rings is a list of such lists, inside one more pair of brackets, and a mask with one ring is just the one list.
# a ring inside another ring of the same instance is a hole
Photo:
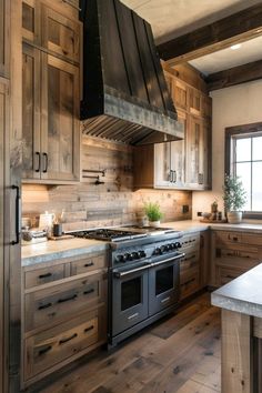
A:
{"label": "leafy plant with its pot on the counter before the window", "polygon": [[239,224],[242,221],[242,208],[246,202],[246,192],[239,177],[225,175],[224,187],[224,208],[228,222]]}

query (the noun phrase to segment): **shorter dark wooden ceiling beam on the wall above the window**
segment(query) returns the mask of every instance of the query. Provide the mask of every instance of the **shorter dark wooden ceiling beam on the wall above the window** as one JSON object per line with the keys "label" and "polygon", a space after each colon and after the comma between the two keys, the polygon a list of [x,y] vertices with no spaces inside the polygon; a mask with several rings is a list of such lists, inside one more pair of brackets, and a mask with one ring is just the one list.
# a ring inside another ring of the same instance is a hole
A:
{"label": "shorter dark wooden ceiling beam on the wall above the window", "polygon": [[205,78],[205,82],[208,83],[208,90],[211,91],[255,81],[258,79],[262,79],[262,60],[211,73]]}

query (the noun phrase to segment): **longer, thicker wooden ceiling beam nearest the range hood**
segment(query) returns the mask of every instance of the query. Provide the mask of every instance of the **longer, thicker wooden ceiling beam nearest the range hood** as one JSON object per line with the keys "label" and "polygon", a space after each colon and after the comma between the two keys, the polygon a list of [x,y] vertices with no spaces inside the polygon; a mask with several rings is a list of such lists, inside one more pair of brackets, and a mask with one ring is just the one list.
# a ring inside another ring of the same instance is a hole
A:
{"label": "longer, thicker wooden ceiling beam nearest the range hood", "polygon": [[158,46],[170,66],[190,61],[262,34],[262,3]]}

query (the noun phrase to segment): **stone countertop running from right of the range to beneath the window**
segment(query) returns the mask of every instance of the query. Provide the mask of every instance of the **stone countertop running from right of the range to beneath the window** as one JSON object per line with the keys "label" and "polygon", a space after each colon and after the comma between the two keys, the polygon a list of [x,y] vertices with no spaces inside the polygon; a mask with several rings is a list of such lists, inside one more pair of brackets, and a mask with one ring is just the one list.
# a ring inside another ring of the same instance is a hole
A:
{"label": "stone countertop running from right of the range to beneath the window", "polygon": [[205,231],[208,229],[220,230],[220,231],[248,231],[253,233],[262,233],[262,224],[251,224],[251,223],[241,223],[241,224],[229,224],[229,223],[212,223],[212,222],[200,222],[198,220],[184,220],[184,221],[172,221],[164,222],[161,224],[163,228],[173,228],[178,231],[183,232],[198,232]]}

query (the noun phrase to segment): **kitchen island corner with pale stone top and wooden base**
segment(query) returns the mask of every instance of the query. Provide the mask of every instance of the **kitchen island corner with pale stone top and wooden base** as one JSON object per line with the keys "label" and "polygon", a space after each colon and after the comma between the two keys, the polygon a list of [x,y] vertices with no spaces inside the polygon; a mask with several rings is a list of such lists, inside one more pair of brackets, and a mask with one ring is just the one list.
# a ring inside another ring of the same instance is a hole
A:
{"label": "kitchen island corner with pale stone top and wooden base", "polygon": [[262,392],[262,263],[212,293],[222,309],[222,393]]}

